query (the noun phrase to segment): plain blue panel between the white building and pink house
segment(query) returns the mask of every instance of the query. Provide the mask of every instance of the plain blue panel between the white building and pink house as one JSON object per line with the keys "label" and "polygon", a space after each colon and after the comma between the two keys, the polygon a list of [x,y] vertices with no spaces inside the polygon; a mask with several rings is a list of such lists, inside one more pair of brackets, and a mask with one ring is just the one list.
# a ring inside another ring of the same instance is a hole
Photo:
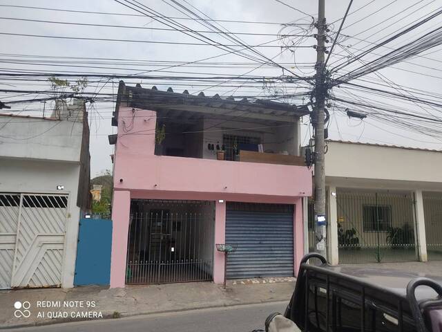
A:
{"label": "plain blue panel between the white building and pink house", "polygon": [[81,219],[75,286],[108,285],[111,277],[112,221]]}

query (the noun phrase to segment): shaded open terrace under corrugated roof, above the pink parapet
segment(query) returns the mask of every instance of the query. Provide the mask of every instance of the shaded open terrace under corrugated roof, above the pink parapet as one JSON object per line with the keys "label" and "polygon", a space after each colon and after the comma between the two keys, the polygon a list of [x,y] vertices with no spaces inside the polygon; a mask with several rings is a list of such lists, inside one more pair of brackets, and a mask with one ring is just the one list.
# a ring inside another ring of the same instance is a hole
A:
{"label": "shaded open terrace under corrugated roof, above the pink parapet", "polygon": [[[118,102],[119,107],[156,112],[157,155],[304,165],[299,145],[300,117],[309,113],[305,106],[174,93],[171,88],[158,91],[155,86],[143,89],[124,83],[119,87]],[[123,131],[131,124],[133,121]]]}

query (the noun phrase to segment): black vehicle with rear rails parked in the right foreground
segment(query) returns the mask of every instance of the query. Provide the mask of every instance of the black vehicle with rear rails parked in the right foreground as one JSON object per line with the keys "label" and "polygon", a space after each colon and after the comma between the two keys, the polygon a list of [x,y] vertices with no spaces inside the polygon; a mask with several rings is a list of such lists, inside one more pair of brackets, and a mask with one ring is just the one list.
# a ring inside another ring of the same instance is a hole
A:
{"label": "black vehicle with rear rails parked in the right foreground", "polygon": [[[312,258],[321,264],[307,264]],[[269,316],[266,331],[291,331],[294,322],[301,331],[312,332],[441,332],[442,279],[398,270],[329,266],[324,257],[309,254],[301,261],[284,316]]]}

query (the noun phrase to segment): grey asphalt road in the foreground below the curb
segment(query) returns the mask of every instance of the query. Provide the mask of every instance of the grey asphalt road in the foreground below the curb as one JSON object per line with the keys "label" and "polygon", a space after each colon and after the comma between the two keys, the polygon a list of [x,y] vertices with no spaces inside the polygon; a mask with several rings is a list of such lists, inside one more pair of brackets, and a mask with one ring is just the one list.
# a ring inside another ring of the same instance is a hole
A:
{"label": "grey asphalt road in the foreground below the curb", "polygon": [[90,322],[72,322],[22,329],[1,331],[45,331],[45,332],[249,332],[264,329],[268,315],[283,313],[287,302],[211,308],[180,313],[162,313],[99,320]]}

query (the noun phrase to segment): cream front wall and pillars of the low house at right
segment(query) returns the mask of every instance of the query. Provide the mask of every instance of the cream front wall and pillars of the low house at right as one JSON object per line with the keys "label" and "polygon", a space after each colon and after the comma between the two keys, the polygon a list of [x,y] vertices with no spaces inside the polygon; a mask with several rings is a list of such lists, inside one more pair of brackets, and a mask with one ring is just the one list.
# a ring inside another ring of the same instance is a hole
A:
{"label": "cream front wall and pillars of the low house at right", "polygon": [[[329,261],[338,264],[337,221],[340,209],[336,206],[336,192],[347,190],[376,190],[412,194],[414,199],[415,238],[419,259],[427,260],[425,232],[442,233],[442,224],[433,223],[422,192],[442,193],[442,151],[364,144],[358,142],[327,141],[325,154],[325,182],[329,204]],[[425,196],[425,195],[424,195]],[[426,204],[426,205],[425,205]],[[398,212],[396,212],[398,214]],[[432,216],[435,219],[434,216]],[[436,219],[440,219],[438,216]],[[360,220],[361,217],[354,219]],[[428,228],[425,230],[425,225]],[[361,225],[360,225],[361,226]],[[429,237],[427,236],[427,239]],[[430,239],[432,239],[430,237]],[[432,239],[434,241],[434,239]],[[438,242],[439,243],[439,242]]]}

